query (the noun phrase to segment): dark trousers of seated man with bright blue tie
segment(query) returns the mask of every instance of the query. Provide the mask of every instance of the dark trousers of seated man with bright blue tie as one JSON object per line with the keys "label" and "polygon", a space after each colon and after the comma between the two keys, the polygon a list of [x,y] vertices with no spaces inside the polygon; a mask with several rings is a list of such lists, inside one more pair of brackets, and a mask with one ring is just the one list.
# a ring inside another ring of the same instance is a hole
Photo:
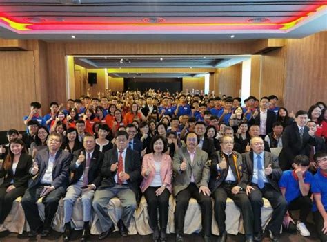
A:
{"label": "dark trousers of seated man with bright blue tie", "polygon": [[262,189],[255,184],[252,184],[251,186],[255,188],[255,190],[251,190],[251,193],[248,196],[252,204],[254,215],[253,232],[255,232],[255,234],[261,232],[261,207],[264,206],[264,201],[262,200],[262,197],[264,197],[268,199],[273,208],[273,216],[268,223],[267,228],[274,234],[279,234],[287,210],[286,199],[281,195],[281,192],[275,190],[275,188],[270,184],[265,184]]}

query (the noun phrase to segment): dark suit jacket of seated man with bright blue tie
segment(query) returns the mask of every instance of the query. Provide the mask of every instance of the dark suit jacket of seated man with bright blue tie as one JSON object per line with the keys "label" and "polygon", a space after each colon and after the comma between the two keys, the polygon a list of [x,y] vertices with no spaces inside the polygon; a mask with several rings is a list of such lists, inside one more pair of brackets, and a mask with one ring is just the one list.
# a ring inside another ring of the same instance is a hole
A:
{"label": "dark suit jacket of seated man with bright blue tie", "polygon": [[[243,156],[243,163],[248,169],[248,184],[251,183],[253,177],[253,151],[246,152],[242,154]],[[278,158],[276,155],[264,151],[264,167],[267,168],[271,164],[271,168],[273,168],[273,173],[266,176],[269,183],[275,188],[275,190],[279,191],[278,181],[282,175],[282,171],[279,168]]]}

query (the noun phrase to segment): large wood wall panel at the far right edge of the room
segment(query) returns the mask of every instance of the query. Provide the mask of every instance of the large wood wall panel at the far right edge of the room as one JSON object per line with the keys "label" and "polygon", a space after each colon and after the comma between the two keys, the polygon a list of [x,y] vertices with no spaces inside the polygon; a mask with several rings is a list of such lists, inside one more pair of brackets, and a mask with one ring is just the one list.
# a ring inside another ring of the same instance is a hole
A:
{"label": "large wood wall panel at the far right edge of the room", "polygon": [[308,110],[318,101],[327,103],[327,31],[288,39],[286,63],[286,107]]}

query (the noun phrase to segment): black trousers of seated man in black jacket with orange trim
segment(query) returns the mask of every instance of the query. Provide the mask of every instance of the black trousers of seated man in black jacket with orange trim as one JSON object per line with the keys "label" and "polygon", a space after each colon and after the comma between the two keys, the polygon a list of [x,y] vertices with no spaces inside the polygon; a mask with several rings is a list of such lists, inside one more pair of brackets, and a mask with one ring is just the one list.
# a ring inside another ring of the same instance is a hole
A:
{"label": "black trousers of seated man in black jacket with orange trim", "polygon": [[253,234],[253,212],[250,200],[244,191],[239,191],[236,195],[232,194],[232,188],[237,184],[222,184],[213,192],[215,199],[215,219],[218,223],[219,234],[226,230],[226,199],[230,197],[237,207],[241,209],[244,230],[246,234]]}

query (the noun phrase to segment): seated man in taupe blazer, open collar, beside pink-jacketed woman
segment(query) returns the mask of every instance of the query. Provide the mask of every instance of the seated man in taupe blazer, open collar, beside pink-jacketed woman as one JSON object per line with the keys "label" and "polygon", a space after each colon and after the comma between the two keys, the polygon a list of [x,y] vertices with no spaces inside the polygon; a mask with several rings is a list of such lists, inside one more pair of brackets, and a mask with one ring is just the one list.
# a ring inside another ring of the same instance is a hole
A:
{"label": "seated man in taupe blazer, open collar, beside pink-jacketed woman", "polygon": [[186,147],[175,152],[172,168],[174,172],[173,194],[176,197],[175,228],[176,241],[183,242],[184,219],[191,197],[201,206],[204,241],[210,241],[212,203],[208,181],[210,167],[208,154],[197,147],[199,137],[194,132],[186,134]]}

